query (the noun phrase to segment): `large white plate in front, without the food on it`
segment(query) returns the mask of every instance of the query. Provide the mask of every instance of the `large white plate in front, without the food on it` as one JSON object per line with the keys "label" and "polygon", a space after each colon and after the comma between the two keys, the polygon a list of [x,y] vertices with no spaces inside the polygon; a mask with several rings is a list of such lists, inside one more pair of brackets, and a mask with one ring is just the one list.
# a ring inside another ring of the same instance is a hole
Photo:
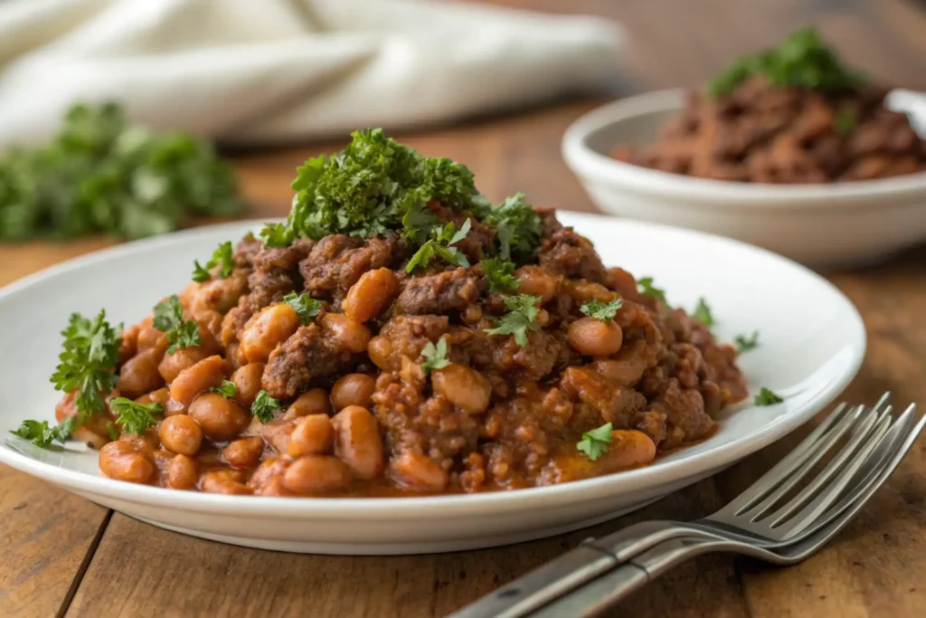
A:
{"label": "large white plate in front, without the food on it", "polygon": [[[723,338],[760,331],[742,367],[753,390],[786,397],[725,414],[720,431],[640,470],[561,486],[437,498],[258,498],[135,486],[102,476],[94,452],[45,451],[8,436],[0,461],[146,522],[239,545],[344,554],[473,549],[549,536],[639,508],[792,431],[832,401],[865,352],[856,309],[831,284],[762,249],[720,237],[596,215],[561,213],[607,264],[652,275],[669,302],[707,296]],[[0,291],[0,431],[52,419],[48,382],[70,311],[106,308],[135,322],[181,289],[194,259],[257,229],[247,221],[119,246]]]}

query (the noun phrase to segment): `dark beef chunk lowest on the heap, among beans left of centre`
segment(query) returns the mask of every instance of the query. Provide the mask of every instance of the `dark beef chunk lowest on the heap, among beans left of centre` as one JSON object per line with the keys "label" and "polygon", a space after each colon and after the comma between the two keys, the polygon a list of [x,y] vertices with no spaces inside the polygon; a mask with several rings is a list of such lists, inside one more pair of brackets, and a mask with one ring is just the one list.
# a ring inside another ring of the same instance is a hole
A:
{"label": "dark beef chunk lowest on the heap, among beans left of centre", "polygon": [[350,372],[358,362],[324,327],[311,323],[270,353],[261,385],[270,397],[293,399]]}

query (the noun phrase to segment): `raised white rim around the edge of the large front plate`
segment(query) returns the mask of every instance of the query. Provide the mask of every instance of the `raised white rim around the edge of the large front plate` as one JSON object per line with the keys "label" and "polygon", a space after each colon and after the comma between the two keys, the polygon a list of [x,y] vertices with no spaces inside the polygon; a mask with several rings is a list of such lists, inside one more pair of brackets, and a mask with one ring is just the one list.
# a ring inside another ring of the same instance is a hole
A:
{"label": "raised white rim around the edge of the large front plate", "polygon": [[[135,502],[138,504],[171,508],[196,513],[220,513],[234,515],[260,515],[270,519],[292,519],[305,517],[310,514],[315,519],[337,519],[341,521],[368,521],[371,513],[375,513],[378,520],[414,520],[441,515],[442,519],[468,517],[470,515],[493,512],[494,514],[512,511],[524,511],[531,508],[546,508],[563,506],[569,503],[580,503],[602,498],[612,498],[621,494],[630,495],[641,489],[669,485],[679,482],[687,477],[696,476],[709,470],[720,469],[731,465],[747,455],[770,445],[772,442],[790,434],[800,425],[807,423],[814,415],[826,406],[832,404],[836,397],[845,390],[845,387],[857,375],[865,359],[868,347],[868,337],[864,322],[855,305],[835,285],[821,277],[818,273],[807,267],[786,259],[781,255],[767,249],[749,245],[732,238],[718,234],[704,233],[696,230],[663,225],[648,221],[632,221],[599,213],[579,212],[557,209],[557,215],[563,215],[566,225],[575,225],[576,222],[587,221],[592,225],[594,221],[608,221],[638,230],[656,230],[664,233],[682,233],[683,235],[697,236],[710,242],[721,243],[735,247],[738,250],[758,252],[767,259],[779,262],[783,267],[801,271],[805,276],[816,280],[828,288],[839,302],[849,311],[853,322],[854,333],[847,333],[845,340],[853,343],[857,348],[854,356],[848,360],[844,372],[828,383],[820,392],[814,394],[805,404],[804,409],[795,410],[780,422],[766,423],[747,438],[736,442],[720,442],[716,447],[704,452],[695,453],[692,457],[682,457],[658,466],[645,466],[642,468],[620,473],[606,474],[589,479],[582,479],[554,486],[528,487],[514,491],[494,491],[479,494],[460,494],[450,496],[423,496],[408,498],[276,498],[254,496],[224,496],[207,494],[203,492],[187,492],[167,489],[156,486],[139,486],[131,483],[107,478],[101,474],[90,474],[69,470],[33,460],[17,452],[14,448],[0,442],[0,462],[23,473],[29,473],[36,478],[65,488],[73,487],[86,492],[107,498]],[[119,255],[144,251],[149,247],[169,246],[178,240],[190,240],[196,236],[208,236],[213,233],[230,229],[244,232],[256,229],[269,219],[249,219],[207,225],[180,232],[163,234],[153,238],[146,238],[117,246],[106,247],[86,255],[68,259],[34,272],[19,280],[0,288],[0,308],[6,299],[14,296],[20,290],[32,284],[40,283],[46,279],[56,277],[84,266],[100,261],[106,261]],[[709,438],[710,439],[710,438]],[[694,467],[693,467],[694,464]],[[371,508],[372,507],[372,508]]]}

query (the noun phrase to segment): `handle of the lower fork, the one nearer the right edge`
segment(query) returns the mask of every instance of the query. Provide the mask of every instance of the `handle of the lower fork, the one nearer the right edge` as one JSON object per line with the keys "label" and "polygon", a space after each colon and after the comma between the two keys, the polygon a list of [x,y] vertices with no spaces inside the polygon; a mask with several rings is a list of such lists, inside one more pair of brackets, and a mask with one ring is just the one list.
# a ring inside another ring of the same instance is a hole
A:
{"label": "handle of the lower fork, the one nearer the right edge", "polygon": [[529,615],[531,618],[597,616],[676,564],[710,551],[730,549],[730,545],[727,541],[695,536],[664,541]]}

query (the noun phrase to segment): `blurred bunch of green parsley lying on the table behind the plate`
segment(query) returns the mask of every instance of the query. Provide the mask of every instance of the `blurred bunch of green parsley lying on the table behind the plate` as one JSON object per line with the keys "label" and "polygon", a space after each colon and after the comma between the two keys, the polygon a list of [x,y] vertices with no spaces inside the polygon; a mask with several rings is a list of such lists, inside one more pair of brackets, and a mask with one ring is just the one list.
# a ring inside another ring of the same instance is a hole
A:
{"label": "blurred bunch of green parsley lying on the table behind the plate", "polygon": [[78,105],[55,140],[0,153],[0,241],[107,233],[141,238],[241,211],[232,168],[186,132]]}

